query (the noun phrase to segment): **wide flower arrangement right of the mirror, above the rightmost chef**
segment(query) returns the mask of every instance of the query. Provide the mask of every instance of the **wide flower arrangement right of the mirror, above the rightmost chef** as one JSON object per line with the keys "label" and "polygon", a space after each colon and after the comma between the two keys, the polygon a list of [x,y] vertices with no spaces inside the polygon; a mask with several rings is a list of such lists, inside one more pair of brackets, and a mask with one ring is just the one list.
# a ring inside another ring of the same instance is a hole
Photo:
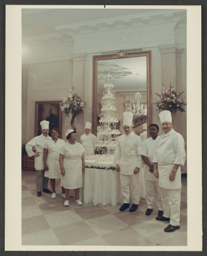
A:
{"label": "wide flower arrangement right of the mirror, above the rightmost chef", "polygon": [[163,92],[161,94],[155,93],[159,96],[158,101],[154,103],[156,105],[156,110],[169,110],[170,112],[176,112],[180,110],[181,112],[185,112],[185,105],[187,105],[181,95],[182,93],[178,93],[176,90],[176,86],[171,86],[167,88],[167,90],[163,87]]}

